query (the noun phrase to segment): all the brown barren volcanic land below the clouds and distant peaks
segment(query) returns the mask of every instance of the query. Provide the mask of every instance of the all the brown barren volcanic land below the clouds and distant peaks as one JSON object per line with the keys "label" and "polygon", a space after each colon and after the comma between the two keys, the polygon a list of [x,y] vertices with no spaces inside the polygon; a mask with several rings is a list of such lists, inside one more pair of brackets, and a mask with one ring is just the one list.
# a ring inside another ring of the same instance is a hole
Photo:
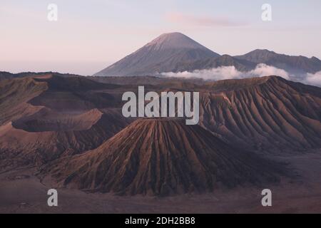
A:
{"label": "all the brown barren volcanic land below the clouds and distant peaks", "polygon": [[[138,86],[199,91],[199,125],[123,118]],[[320,107],[320,88],[276,76],[3,80],[0,212],[320,213]]]}

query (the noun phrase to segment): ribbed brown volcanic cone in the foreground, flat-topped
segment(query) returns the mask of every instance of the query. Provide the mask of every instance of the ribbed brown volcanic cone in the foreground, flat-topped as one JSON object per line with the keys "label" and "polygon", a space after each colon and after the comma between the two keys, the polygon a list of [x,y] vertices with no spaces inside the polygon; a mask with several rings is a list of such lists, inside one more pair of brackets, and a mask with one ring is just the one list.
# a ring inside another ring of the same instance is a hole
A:
{"label": "ribbed brown volcanic cone in the foreground, flat-topped", "polygon": [[41,171],[58,185],[126,195],[207,192],[277,181],[277,165],[234,149],[199,125],[139,119],[96,150]]}

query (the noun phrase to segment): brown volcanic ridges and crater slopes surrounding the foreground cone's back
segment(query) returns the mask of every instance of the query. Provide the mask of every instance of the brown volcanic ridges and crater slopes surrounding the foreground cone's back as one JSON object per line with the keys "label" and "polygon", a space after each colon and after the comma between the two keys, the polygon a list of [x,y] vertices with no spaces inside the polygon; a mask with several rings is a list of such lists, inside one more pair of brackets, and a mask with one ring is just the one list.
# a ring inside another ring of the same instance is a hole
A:
{"label": "brown volcanic ridges and crater slopes surrounding the foreground cone's back", "polygon": [[121,114],[121,95],[144,83],[158,93],[200,92],[200,125],[230,145],[277,155],[321,147],[318,87],[276,76],[217,82],[137,78],[98,83],[49,74],[1,81],[0,170],[43,165],[100,146],[132,122]]}

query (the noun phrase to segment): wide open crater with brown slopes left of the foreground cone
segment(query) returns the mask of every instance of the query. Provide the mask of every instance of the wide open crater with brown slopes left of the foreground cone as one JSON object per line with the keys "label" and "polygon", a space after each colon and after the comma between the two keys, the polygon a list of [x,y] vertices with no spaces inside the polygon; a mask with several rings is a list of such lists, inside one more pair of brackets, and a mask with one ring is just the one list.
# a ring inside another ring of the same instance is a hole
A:
{"label": "wide open crater with brown slopes left of the foreground cone", "polygon": [[64,120],[50,120],[45,116],[43,120],[19,120],[0,126],[0,171],[44,165],[61,156],[94,149],[130,122],[120,118],[118,111],[91,110],[80,116],[83,119],[69,115]]}

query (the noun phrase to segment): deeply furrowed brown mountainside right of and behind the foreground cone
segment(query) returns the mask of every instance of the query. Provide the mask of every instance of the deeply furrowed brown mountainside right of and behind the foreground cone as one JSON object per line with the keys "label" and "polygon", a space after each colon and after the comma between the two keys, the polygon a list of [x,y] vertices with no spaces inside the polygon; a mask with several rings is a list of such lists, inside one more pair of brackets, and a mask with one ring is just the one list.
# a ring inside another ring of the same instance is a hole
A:
{"label": "deeply furrowed brown mountainside right of and behind the foreground cone", "polygon": [[200,124],[233,145],[273,153],[321,147],[321,88],[270,76],[203,89]]}

